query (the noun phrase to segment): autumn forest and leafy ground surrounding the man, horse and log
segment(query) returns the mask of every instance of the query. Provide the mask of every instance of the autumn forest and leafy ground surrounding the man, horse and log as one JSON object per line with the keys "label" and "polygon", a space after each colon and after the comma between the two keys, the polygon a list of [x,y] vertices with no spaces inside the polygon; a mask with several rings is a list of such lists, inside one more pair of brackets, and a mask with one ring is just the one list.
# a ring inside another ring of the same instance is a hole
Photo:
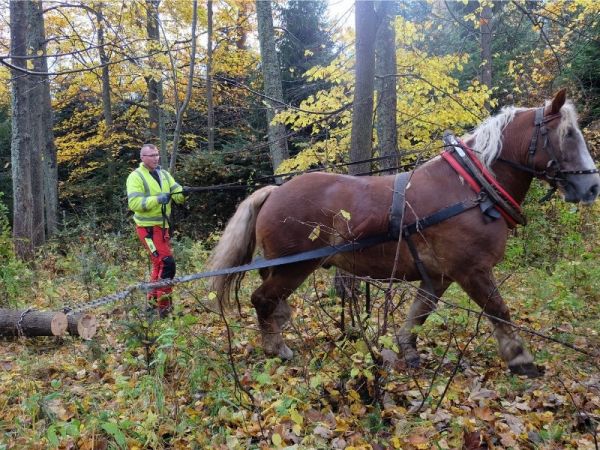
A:
{"label": "autumn forest and leafy ground surrounding the man, horse and log", "polygon": [[[328,6],[3,0],[0,307],[58,309],[147,278],[124,192],[145,142],[182,185],[249,186],[175,210],[179,273],[203,269],[237,203],[275,171],[410,168],[439,153],[445,129],[460,135],[560,87],[598,160],[596,2],[339,1],[335,18]],[[357,120],[367,59],[355,38],[369,29],[374,96]],[[503,290],[523,326],[597,347],[598,206],[539,204],[543,194],[536,184],[526,201]],[[139,295],[101,310],[92,342],[7,341],[0,448],[598,448],[597,358],[538,338],[549,375],[518,379],[476,314],[446,306],[422,331],[424,372],[390,375],[369,360],[369,336],[340,341],[331,274],[310,284],[295,297],[303,356],[288,366],[254,349],[251,314],[207,309],[201,283],[181,288],[168,323],[145,320]]]}

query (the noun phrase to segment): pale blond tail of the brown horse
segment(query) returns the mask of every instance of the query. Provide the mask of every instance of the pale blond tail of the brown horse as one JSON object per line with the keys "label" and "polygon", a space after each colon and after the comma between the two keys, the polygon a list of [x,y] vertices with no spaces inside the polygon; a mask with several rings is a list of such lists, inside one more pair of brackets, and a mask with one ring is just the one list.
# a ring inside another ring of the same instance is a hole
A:
{"label": "pale blond tail of the brown horse", "polygon": [[[277,186],[266,186],[245,199],[225,227],[219,243],[209,259],[208,270],[241,266],[252,261],[256,247],[256,218],[260,208]],[[209,279],[209,290],[216,292],[221,307],[229,307],[231,288],[244,272]]]}

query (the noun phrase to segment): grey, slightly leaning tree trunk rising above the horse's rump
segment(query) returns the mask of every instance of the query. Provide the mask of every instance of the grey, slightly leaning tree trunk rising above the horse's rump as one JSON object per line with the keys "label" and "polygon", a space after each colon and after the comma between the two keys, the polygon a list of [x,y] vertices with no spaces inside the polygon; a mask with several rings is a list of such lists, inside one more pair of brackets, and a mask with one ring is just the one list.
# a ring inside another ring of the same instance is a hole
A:
{"label": "grey, slightly leaning tree trunk rising above the horse's rump", "polygon": [[267,107],[267,121],[269,124],[268,140],[273,163],[273,172],[289,157],[285,125],[272,124],[273,117],[282,108],[283,89],[281,87],[281,72],[279,58],[275,48],[275,35],[273,32],[273,14],[270,0],[256,1],[256,16],[258,20],[258,40],[260,42],[260,56],[264,78],[264,93]]}

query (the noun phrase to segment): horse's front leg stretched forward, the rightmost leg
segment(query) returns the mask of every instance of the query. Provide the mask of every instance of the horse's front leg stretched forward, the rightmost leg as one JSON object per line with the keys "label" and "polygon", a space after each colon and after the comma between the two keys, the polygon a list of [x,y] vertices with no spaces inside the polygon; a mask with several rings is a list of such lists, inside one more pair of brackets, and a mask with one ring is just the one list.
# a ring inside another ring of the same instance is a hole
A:
{"label": "horse's front leg stretched forward, the rightmost leg", "polygon": [[533,356],[525,348],[523,339],[511,324],[510,312],[498,292],[491,271],[469,271],[457,281],[492,322],[500,356],[506,361],[511,372],[528,377],[540,376],[540,371],[533,363]]}

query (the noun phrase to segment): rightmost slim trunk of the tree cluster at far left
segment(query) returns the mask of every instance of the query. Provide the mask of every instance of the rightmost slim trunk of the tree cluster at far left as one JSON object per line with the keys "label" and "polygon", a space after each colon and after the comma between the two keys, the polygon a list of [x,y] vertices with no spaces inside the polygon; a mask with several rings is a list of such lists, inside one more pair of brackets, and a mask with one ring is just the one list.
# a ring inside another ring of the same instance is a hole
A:
{"label": "rightmost slim trunk of the tree cluster at far left", "polygon": [[[37,55],[33,60],[33,70],[40,73],[48,72],[46,57],[46,32],[44,29],[44,16],[42,2],[32,3],[32,28],[33,36],[31,54]],[[47,75],[38,75],[35,78],[36,105],[40,110],[39,149],[41,152],[41,172],[43,180],[43,211],[46,224],[46,238],[53,236],[58,231],[58,165],[56,161],[56,145],[54,144],[54,113],[50,97],[50,80]]]}

